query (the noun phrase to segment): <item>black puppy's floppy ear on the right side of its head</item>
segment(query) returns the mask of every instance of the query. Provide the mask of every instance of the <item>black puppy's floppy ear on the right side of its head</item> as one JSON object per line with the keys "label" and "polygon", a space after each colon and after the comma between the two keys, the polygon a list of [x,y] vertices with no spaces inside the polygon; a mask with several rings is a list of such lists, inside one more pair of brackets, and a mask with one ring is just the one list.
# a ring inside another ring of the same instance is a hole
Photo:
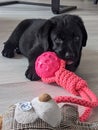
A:
{"label": "black puppy's floppy ear on the right side of its head", "polygon": [[82,35],[83,35],[82,46],[85,47],[87,42],[87,31],[85,29],[84,23],[79,16],[73,16],[73,20],[79,25],[82,31]]}

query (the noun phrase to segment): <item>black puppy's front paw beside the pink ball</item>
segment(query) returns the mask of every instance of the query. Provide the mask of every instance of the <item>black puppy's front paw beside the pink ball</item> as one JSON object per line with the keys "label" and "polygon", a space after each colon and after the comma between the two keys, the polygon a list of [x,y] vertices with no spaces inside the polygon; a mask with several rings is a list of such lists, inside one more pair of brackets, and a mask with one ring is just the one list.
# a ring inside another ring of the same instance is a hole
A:
{"label": "black puppy's front paw beside the pink ball", "polygon": [[37,81],[40,77],[33,71],[32,68],[28,68],[25,72],[25,76],[31,81]]}

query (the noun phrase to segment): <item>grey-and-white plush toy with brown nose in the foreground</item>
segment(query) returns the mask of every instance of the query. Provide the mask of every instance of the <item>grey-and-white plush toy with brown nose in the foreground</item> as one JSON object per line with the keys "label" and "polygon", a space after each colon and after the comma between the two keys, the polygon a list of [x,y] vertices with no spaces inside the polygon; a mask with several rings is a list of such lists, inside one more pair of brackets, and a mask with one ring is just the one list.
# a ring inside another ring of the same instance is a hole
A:
{"label": "grey-and-white plush toy with brown nose in the foreground", "polygon": [[80,122],[78,107],[59,106],[49,94],[11,105],[0,118],[0,130],[98,130],[98,122]]}

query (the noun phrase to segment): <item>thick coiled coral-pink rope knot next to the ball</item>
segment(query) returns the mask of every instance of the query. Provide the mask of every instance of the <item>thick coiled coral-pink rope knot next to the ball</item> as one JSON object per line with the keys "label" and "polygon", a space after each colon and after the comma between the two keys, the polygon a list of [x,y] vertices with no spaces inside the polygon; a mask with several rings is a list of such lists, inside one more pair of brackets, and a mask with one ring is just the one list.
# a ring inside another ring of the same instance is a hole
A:
{"label": "thick coiled coral-pink rope knot next to the ball", "polygon": [[70,93],[75,95],[80,95],[79,91],[82,91],[84,87],[87,86],[87,83],[82,78],[78,77],[73,72],[69,70],[60,69],[56,72],[56,82],[63,88],[67,89]]}

